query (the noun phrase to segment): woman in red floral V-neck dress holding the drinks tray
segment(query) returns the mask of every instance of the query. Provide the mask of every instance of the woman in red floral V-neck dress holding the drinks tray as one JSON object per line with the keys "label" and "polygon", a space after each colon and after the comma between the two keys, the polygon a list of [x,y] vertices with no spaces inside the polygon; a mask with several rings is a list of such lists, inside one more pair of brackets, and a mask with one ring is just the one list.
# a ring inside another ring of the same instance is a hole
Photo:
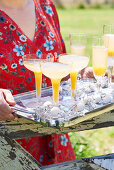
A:
{"label": "woman in red floral V-neck dress holding the drinks tray", "polygon": [[[15,105],[12,94],[35,88],[34,74],[22,61],[28,53],[53,55],[55,61],[65,53],[55,6],[50,0],[0,0],[0,120],[17,119],[10,107]],[[43,77],[46,86],[50,81]],[[42,165],[75,159],[68,134],[17,141]]]}

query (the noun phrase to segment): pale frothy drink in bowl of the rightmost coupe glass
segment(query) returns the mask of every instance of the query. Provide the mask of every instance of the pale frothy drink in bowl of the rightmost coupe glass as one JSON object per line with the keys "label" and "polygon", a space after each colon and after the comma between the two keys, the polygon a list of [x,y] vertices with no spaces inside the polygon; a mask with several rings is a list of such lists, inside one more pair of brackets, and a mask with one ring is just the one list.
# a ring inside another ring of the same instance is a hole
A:
{"label": "pale frothy drink in bowl of the rightmost coupe glass", "polygon": [[86,56],[78,56],[75,54],[62,55],[59,61],[68,64],[71,67],[70,72],[79,72],[88,65],[89,58]]}

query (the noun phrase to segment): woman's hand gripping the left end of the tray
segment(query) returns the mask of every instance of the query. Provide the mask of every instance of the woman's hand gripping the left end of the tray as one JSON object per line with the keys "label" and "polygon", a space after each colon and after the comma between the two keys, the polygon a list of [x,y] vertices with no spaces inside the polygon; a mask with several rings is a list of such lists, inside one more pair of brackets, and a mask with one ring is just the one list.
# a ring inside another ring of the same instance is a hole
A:
{"label": "woman's hand gripping the left end of the tray", "polygon": [[0,89],[0,120],[17,120],[17,116],[13,114],[13,109],[16,103],[9,90]]}

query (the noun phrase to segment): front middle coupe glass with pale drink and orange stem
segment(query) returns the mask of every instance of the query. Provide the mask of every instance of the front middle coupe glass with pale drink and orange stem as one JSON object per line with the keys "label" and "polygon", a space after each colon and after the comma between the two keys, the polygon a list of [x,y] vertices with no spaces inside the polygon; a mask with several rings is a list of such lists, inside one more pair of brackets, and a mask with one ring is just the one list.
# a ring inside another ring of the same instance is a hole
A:
{"label": "front middle coupe glass with pale drink and orange stem", "polygon": [[51,79],[53,88],[53,102],[59,102],[59,87],[62,78],[70,73],[70,67],[59,62],[45,62],[41,65],[42,73]]}

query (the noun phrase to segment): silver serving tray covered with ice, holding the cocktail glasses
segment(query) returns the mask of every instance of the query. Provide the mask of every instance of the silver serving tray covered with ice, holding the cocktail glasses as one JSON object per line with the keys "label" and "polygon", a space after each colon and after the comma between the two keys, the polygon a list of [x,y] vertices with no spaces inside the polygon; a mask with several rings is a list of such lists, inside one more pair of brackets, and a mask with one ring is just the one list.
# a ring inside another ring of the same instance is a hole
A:
{"label": "silver serving tray covered with ice, holding the cocktail glasses", "polygon": [[41,98],[35,90],[14,95],[17,115],[43,126],[68,127],[114,109],[114,89],[103,84],[98,91],[96,82],[83,79],[77,83],[76,97],[71,97],[70,80],[61,83],[58,105],[52,100],[52,87],[43,88]]}

